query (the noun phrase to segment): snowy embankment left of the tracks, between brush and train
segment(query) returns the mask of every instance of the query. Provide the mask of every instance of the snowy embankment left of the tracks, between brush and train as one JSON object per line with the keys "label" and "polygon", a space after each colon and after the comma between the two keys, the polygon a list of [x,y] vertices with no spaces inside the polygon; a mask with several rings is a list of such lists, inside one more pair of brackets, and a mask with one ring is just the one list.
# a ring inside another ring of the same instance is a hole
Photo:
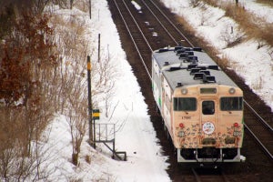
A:
{"label": "snowy embankment left of the tracks, between brush and train", "polygon": [[[110,58],[115,68],[115,93],[107,106],[109,116],[106,117],[105,101],[98,103],[101,115],[96,123],[116,124],[116,150],[126,151],[127,161],[116,161],[112,153],[103,145],[96,145],[96,150],[87,143],[88,133],[81,147],[79,165],[71,163],[71,136],[66,116],[56,116],[48,126],[45,136],[46,153],[50,154],[43,163],[49,181],[170,181],[167,169],[167,157],[162,156],[161,147],[157,144],[156,132],[147,115],[147,105],[131,66],[126,61],[126,54],[113,23],[106,0],[92,1],[92,19],[89,14],[73,8],[62,10],[57,8],[54,14],[85,18],[85,37],[90,39],[91,61],[97,61],[97,39],[101,35],[102,62]],[[87,101],[86,101],[87,102]],[[86,128],[87,129],[87,128]],[[112,144],[109,144],[112,146]]]}

